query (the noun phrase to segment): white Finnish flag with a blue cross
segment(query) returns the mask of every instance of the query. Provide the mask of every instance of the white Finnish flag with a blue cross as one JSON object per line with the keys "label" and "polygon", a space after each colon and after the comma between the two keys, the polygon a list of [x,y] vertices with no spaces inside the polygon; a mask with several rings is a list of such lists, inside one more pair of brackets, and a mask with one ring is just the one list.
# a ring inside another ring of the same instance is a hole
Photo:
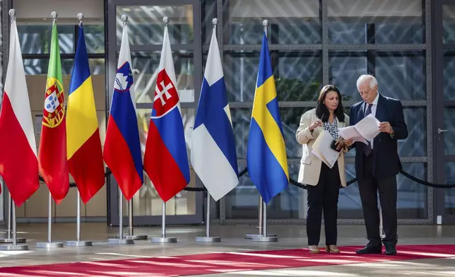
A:
{"label": "white Finnish flag with a blue cross", "polygon": [[234,131],[213,28],[201,97],[191,134],[191,165],[215,201],[239,184]]}

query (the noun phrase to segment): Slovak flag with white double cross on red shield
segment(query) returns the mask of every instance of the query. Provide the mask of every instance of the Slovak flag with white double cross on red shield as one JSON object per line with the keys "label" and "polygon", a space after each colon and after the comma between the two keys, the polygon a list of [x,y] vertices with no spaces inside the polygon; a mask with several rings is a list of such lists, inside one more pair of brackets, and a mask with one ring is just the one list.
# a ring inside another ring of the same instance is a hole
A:
{"label": "Slovak flag with white double cross on red shield", "polygon": [[166,25],[143,162],[150,181],[165,202],[189,183],[187,146],[176,86]]}

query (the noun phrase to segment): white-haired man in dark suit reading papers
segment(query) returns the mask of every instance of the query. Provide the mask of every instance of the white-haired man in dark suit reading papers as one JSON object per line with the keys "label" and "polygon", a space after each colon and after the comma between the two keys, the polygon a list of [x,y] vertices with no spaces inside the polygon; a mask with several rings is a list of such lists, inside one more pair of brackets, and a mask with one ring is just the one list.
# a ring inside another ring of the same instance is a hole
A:
{"label": "white-haired man in dark suit reading papers", "polygon": [[[382,243],[386,255],[396,254],[396,175],[401,170],[398,158],[398,139],[408,137],[408,126],[404,121],[403,106],[399,100],[386,98],[377,90],[377,80],[371,75],[358,78],[357,88],[362,102],[350,108],[350,125],[355,125],[368,114],[374,115],[379,124],[379,133],[368,144],[355,143],[355,172],[358,177],[363,217],[367,228],[368,242],[357,254],[380,254]],[[379,235],[379,209],[377,192],[382,208],[385,237],[381,243]]]}

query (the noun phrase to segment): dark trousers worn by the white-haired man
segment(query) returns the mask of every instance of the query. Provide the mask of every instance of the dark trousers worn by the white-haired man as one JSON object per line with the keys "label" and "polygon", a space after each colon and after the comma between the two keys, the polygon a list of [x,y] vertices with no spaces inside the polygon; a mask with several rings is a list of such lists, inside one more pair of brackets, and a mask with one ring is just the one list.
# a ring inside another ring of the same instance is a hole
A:
{"label": "dark trousers worn by the white-haired man", "polygon": [[364,177],[358,181],[360,199],[362,200],[363,218],[367,228],[367,238],[373,245],[381,245],[379,234],[379,208],[377,206],[377,192],[382,209],[382,228],[385,237],[382,240],[384,245],[396,245],[396,175],[392,177],[373,177],[374,155],[364,156],[363,165]]}

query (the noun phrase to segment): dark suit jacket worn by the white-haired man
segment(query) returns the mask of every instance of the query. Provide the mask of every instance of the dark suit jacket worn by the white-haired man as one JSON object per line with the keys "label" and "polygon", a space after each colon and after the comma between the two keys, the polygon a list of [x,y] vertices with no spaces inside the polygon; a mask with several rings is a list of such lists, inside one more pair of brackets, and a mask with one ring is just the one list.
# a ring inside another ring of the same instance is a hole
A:
{"label": "dark suit jacket worn by the white-haired man", "polygon": [[[350,125],[355,125],[364,118],[365,102],[358,102],[350,107]],[[401,170],[401,162],[398,158],[398,139],[408,137],[408,126],[404,121],[403,106],[399,100],[379,95],[377,102],[376,118],[379,122],[389,122],[394,129],[394,136],[388,133],[379,133],[373,142],[373,176],[391,177]],[[365,143],[355,143],[355,172],[358,178],[363,178],[363,165],[365,155],[363,147]]]}

